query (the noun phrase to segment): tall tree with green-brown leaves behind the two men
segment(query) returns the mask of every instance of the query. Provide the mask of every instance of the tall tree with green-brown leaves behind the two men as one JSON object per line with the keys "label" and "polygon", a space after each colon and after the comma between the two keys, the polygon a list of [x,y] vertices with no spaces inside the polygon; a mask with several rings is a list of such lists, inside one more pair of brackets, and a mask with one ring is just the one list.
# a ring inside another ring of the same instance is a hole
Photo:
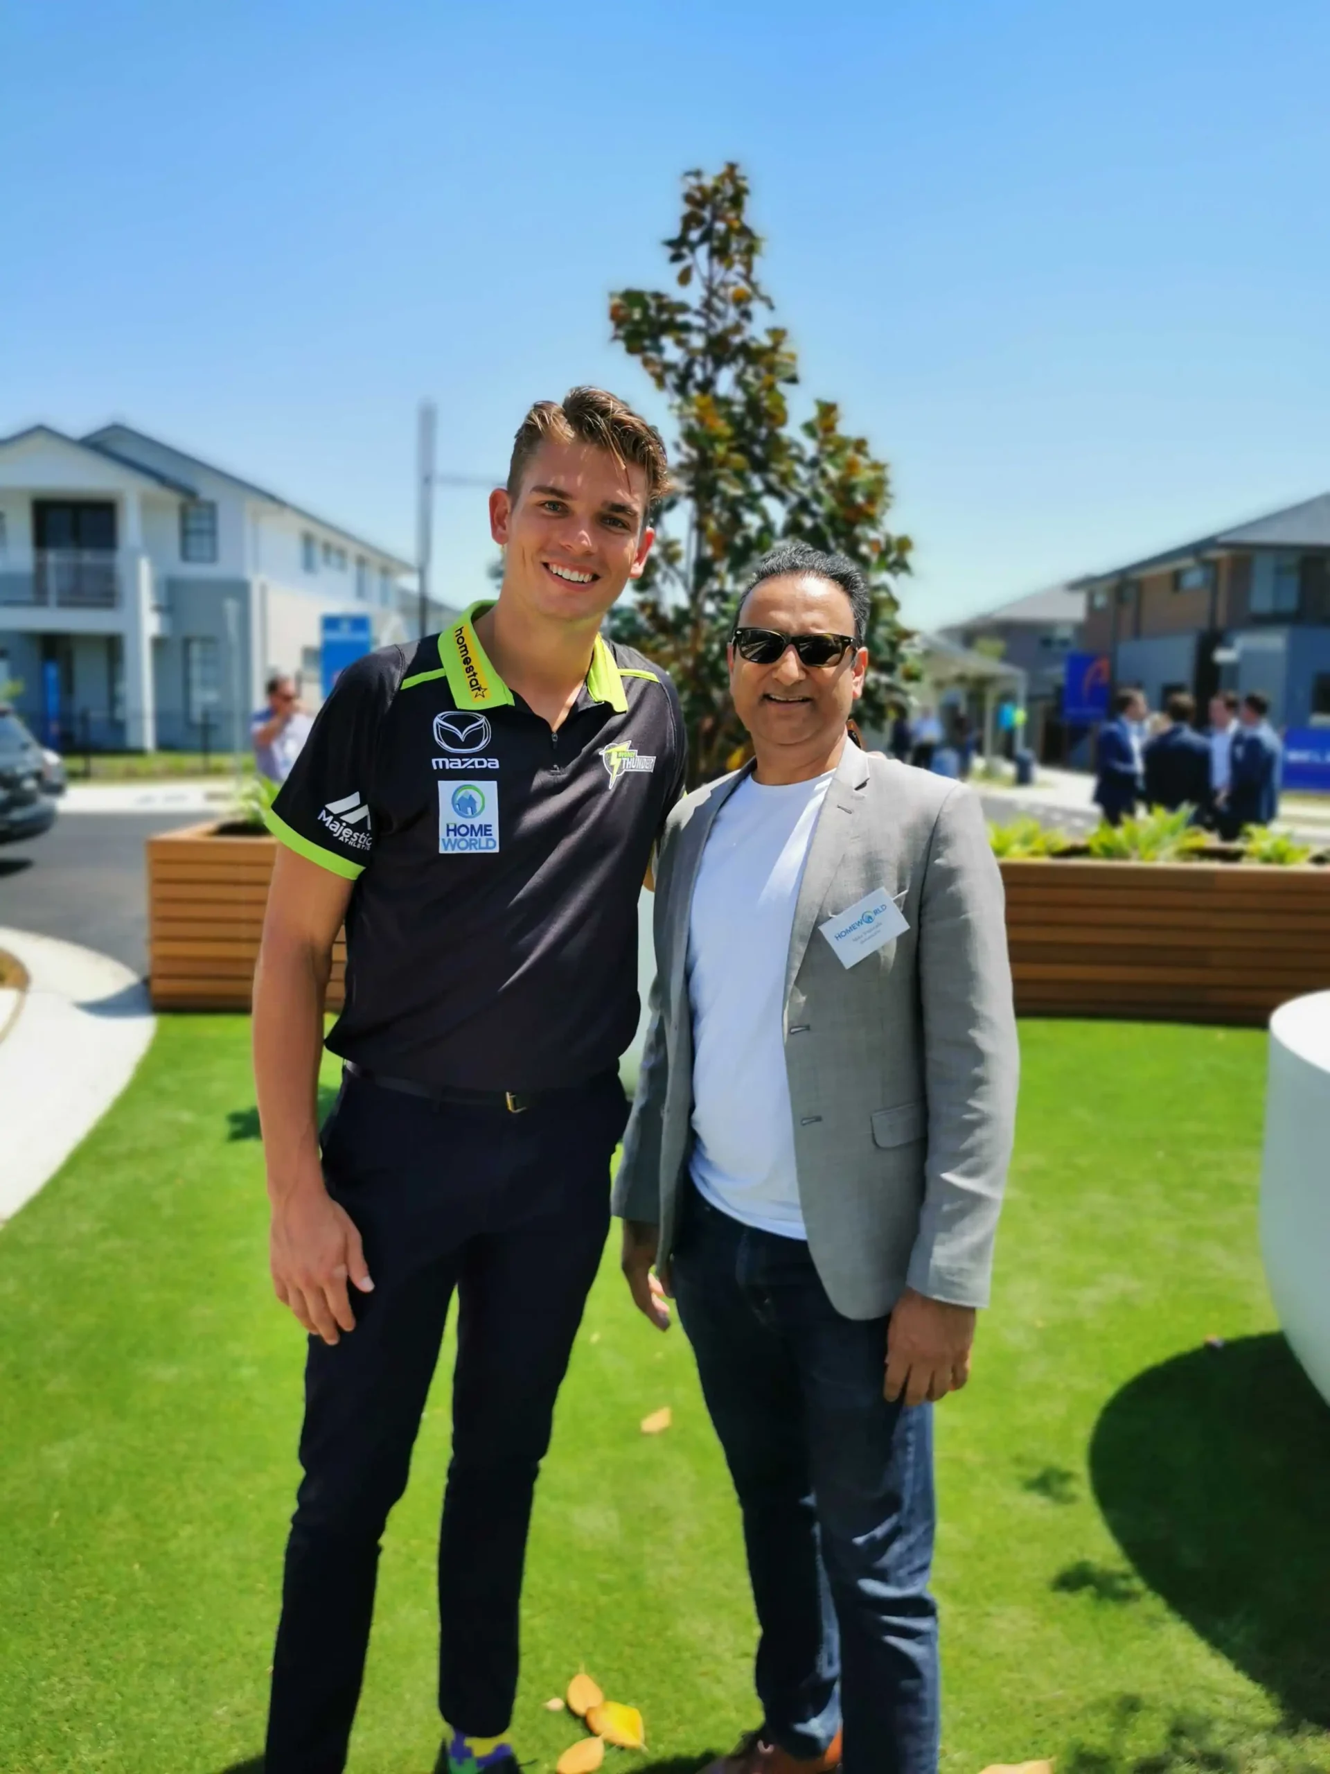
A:
{"label": "tall tree with green-brown leaves behind the two men", "polygon": [[904,639],[892,580],[910,571],[910,539],[885,525],[887,463],[841,429],[833,401],[791,422],[786,389],[798,381],[798,360],[784,326],[763,325],[775,305],[757,280],[763,239],[747,209],[748,181],[732,161],[715,177],[685,174],[683,220],[665,241],[683,294],[621,289],[610,298],[615,341],[669,397],[677,424],[663,534],[637,596],[610,621],[674,678],[690,782],[743,752],[725,640],[745,573],[775,541],[800,538],[865,571],[871,667],[860,706],[869,726],[887,718]]}

